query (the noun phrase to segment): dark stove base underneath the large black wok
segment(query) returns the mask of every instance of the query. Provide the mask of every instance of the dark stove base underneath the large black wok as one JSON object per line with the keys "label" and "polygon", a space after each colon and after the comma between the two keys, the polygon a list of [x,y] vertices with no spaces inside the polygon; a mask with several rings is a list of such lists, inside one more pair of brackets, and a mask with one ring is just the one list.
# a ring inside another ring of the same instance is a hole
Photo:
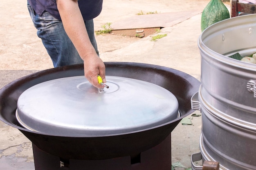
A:
{"label": "dark stove base underneath the large black wok", "polygon": [[171,170],[171,134],[159,145],[132,157],[61,160],[40,150],[34,144],[33,152],[35,170]]}

